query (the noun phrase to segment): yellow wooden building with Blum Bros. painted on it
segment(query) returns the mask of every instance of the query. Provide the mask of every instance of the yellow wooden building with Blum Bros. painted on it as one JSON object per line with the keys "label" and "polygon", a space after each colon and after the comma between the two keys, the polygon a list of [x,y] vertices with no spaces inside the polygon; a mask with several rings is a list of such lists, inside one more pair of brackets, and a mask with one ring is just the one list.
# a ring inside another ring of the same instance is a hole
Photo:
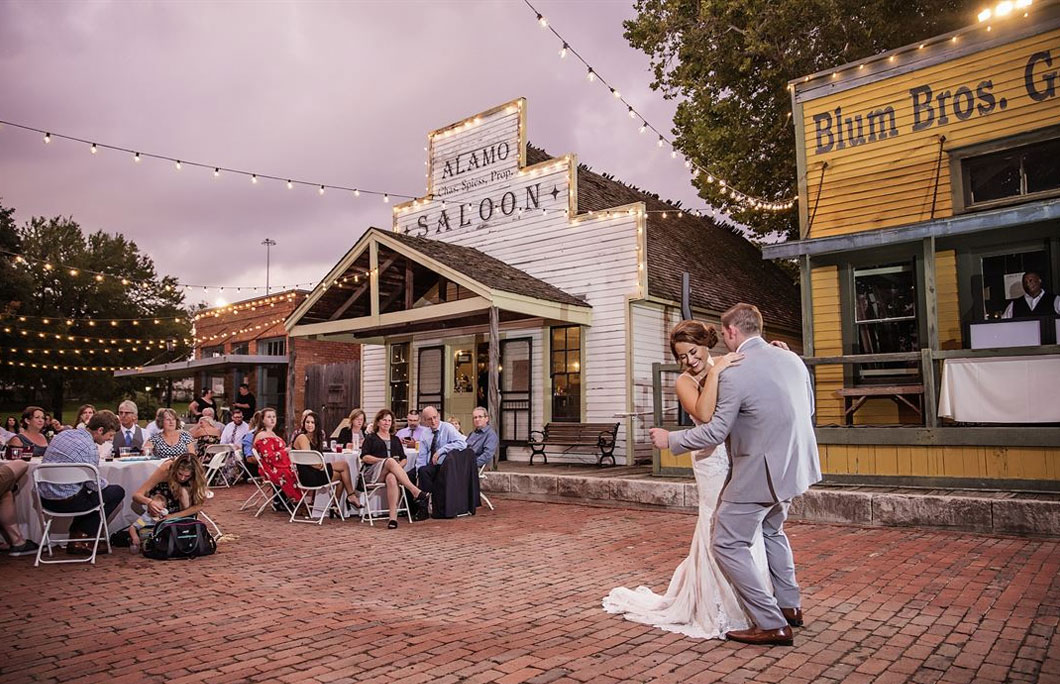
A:
{"label": "yellow wooden building with Blum Bros. painted on it", "polygon": [[1060,486],[1060,4],[991,15],[789,85],[829,481]]}

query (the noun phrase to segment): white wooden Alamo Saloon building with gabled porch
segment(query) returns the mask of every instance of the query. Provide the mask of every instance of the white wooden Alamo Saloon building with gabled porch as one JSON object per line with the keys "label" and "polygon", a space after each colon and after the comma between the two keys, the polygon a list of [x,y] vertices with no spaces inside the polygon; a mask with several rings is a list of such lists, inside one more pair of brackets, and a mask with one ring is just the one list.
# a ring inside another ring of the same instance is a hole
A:
{"label": "white wooden Alamo Saloon building with gabled porch", "polygon": [[[617,462],[650,458],[652,364],[672,363],[685,271],[697,318],[749,301],[800,348],[796,287],[757,247],[528,146],[525,100],[430,133],[427,161],[426,195],[370,228],[286,323],[364,345],[370,417],[434,405],[470,429],[490,406],[511,460],[548,423],[617,422]],[[549,461],[597,456],[562,451]]]}

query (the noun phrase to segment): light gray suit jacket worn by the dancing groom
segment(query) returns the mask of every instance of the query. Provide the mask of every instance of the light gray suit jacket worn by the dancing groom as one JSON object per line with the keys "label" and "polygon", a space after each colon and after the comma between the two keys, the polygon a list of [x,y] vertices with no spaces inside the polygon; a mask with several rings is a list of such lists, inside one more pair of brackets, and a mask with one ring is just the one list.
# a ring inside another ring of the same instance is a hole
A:
{"label": "light gray suit jacket worn by the dancing groom", "polygon": [[721,374],[713,418],[670,433],[670,450],[683,454],[728,437],[732,466],[721,499],[787,501],[820,481],[810,372],[798,355],[761,337],[748,339],[740,351],[743,363]]}

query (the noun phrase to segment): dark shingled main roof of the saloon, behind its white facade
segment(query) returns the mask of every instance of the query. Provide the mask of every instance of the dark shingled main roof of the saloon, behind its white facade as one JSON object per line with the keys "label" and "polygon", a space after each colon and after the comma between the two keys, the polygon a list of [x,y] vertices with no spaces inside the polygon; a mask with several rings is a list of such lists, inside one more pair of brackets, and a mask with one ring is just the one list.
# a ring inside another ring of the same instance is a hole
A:
{"label": "dark shingled main roof of the saloon, behind its white facade", "polygon": [[[527,145],[527,163],[551,157]],[[788,275],[742,235],[711,218],[697,217],[656,195],[631,188],[608,176],[578,168],[578,211],[600,211],[642,201],[649,211],[666,210],[667,217],[649,213],[648,293],[681,301],[681,276],[688,271],[692,306],[721,313],[741,301],[759,308],[768,328],[801,329],[798,290]]]}

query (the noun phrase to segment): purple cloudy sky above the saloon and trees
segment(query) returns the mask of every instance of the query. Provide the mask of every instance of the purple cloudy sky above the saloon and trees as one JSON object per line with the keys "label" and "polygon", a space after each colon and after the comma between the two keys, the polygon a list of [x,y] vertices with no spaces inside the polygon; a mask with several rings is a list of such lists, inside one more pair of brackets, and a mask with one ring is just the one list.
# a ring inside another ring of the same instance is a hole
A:
{"label": "purple cloudy sky above the saloon and trees", "polygon": [[[534,3],[649,121],[646,55],[622,38],[632,0]],[[426,134],[517,97],[529,139],[700,207],[687,170],[542,30],[523,2],[0,2],[0,119],[103,143],[318,182],[422,194]],[[0,129],[0,197],[16,218],[72,215],[120,231],[183,282],[313,281],[368,226],[377,197],[288,191]],[[189,302],[245,298],[198,290]]]}

